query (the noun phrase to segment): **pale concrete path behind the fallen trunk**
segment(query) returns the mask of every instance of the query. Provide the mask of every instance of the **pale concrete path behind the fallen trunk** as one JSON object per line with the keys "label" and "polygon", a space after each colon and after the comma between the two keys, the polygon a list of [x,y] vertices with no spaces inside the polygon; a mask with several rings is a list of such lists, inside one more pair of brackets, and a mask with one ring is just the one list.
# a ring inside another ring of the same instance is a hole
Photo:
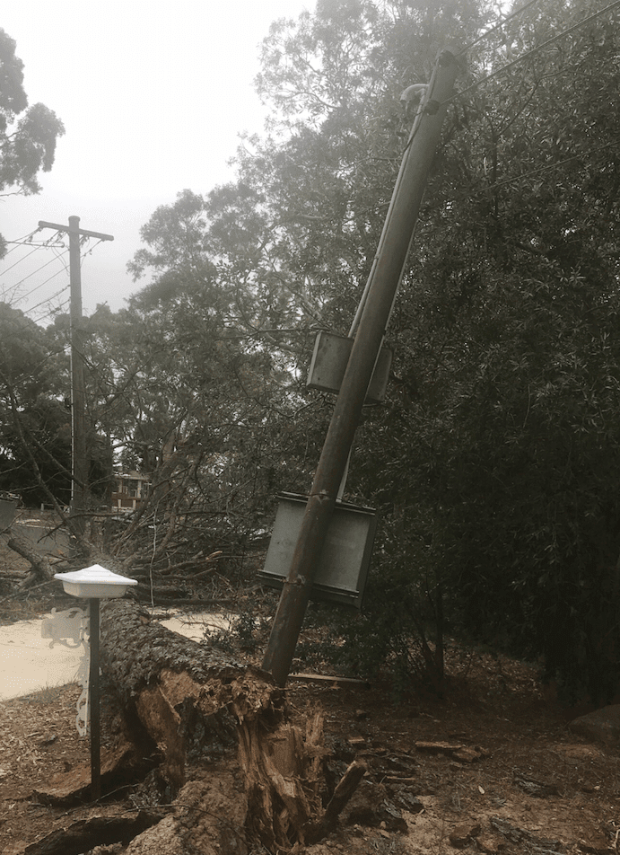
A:
{"label": "pale concrete path behind the fallen trunk", "polygon": [[[67,648],[56,643],[50,648],[49,639],[41,638],[42,622],[19,621],[0,627],[0,701],[78,680],[83,646]],[[205,628],[226,629],[229,621],[221,614],[174,613],[162,625],[199,641]]]}

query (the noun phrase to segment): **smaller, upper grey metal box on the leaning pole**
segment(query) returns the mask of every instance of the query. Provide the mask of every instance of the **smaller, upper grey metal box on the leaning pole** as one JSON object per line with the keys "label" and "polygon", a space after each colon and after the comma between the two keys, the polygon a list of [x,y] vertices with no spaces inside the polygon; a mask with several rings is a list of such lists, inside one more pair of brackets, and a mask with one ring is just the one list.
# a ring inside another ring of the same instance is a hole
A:
{"label": "smaller, upper grey metal box on the leaning pole", "polygon": [[[336,336],[332,332],[319,332],[314,343],[306,385],[310,389],[319,389],[320,392],[340,392],[353,343],[354,339],[346,339],[345,336]],[[366,393],[366,403],[380,404],[385,400],[391,364],[392,351],[390,348],[381,348],[371,384]]]}

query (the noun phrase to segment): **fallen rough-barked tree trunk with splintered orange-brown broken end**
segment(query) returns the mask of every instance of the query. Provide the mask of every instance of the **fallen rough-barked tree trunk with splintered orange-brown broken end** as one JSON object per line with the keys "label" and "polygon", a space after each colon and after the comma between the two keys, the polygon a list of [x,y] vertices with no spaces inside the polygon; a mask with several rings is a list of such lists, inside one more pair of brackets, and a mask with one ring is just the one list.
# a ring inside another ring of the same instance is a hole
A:
{"label": "fallen rough-barked tree trunk with splintered orange-brown broken end", "polygon": [[125,600],[101,609],[100,655],[127,722],[162,753],[165,798],[186,785],[188,761],[213,760],[236,742],[246,835],[268,851],[291,851],[333,826],[363,768],[354,764],[326,811],[322,714],[294,727],[270,674],[167,630]]}

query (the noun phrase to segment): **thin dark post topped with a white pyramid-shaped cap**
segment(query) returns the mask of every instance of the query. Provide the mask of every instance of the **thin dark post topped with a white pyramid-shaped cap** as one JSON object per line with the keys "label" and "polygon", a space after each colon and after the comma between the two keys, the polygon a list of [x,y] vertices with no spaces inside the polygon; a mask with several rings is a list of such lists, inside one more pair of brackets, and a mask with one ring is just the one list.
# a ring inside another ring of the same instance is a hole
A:
{"label": "thin dark post topped with a white pyramid-shaped cap", "polygon": [[54,578],[63,583],[66,594],[83,597],[89,602],[91,661],[88,691],[91,712],[91,798],[96,801],[101,795],[99,601],[123,596],[129,586],[138,583],[135,579],[118,576],[117,573],[112,573],[100,564],[93,564],[92,567],[73,573],[56,573]]}

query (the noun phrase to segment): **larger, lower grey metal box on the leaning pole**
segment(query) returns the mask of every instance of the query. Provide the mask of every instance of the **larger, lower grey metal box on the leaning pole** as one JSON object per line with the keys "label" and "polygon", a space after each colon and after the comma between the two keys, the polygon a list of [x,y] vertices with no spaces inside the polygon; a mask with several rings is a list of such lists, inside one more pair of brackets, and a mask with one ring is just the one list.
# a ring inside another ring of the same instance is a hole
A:
{"label": "larger, lower grey metal box on the leaning pole", "polygon": [[[291,567],[308,497],[280,493],[278,498],[274,531],[259,577],[266,585],[281,588]],[[362,608],[376,529],[373,508],[336,503],[312,586],[312,599]]]}

